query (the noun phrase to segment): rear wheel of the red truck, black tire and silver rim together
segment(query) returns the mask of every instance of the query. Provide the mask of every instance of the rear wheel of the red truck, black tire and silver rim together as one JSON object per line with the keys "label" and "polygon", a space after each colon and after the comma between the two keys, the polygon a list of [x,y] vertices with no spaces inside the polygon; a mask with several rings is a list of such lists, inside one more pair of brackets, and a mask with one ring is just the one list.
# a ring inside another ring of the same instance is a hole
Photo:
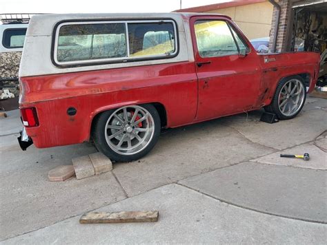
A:
{"label": "rear wheel of the red truck, black tire and silver rim together", "polygon": [[93,129],[99,151],[117,162],[138,160],[158,141],[160,116],[153,105],[129,105],[101,113]]}

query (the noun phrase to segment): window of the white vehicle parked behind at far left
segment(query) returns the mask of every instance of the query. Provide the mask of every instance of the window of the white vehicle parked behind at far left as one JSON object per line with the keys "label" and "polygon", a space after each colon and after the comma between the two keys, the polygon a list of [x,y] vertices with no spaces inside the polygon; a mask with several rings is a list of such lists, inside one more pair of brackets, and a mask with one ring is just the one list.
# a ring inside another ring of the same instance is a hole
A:
{"label": "window of the white vehicle parked behind at far left", "polygon": [[26,28],[19,29],[6,29],[3,32],[2,45],[6,48],[19,48],[23,47],[25,36],[26,36]]}

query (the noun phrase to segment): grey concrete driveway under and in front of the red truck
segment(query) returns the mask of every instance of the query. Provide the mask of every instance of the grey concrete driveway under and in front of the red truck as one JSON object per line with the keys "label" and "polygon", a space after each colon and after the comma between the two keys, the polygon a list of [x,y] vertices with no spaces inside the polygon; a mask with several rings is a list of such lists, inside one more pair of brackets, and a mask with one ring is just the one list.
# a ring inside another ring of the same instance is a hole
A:
{"label": "grey concrete driveway under and in front of the red truck", "polygon": [[[327,100],[293,120],[261,111],[169,129],[148,156],[83,180],[48,171],[95,152],[90,144],[21,151],[18,111],[0,119],[3,244],[268,243],[327,240]],[[315,143],[315,144],[314,144]],[[279,158],[310,153],[310,161]],[[92,210],[159,210],[157,223],[79,224]]]}

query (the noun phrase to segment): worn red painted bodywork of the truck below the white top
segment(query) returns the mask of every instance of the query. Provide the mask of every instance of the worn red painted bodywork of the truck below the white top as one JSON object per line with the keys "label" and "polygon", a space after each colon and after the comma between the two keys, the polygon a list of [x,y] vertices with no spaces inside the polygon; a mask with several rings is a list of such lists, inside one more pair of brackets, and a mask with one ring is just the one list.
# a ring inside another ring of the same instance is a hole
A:
{"label": "worn red painted bodywork of the truck below the white top", "polygon": [[[226,17],[201,16],[210,18],[232,23]],[[194,47],[195,62],[209,59]],[[275,61],[265,63],[265,58]],[[252,48],[243,58],[214,57],[202,67],[195,62],[21,77],[19,105],[35,107],[39,117],[39,126],[26,128],[28,136],[39,148],[81,143],[90,139],[99,112],[143,103],[164,105],[167,127],[188,125],[268,105],[286,76],[310,74],[310,92],[319,72],[319,54],[308,52],[258,55]],[[68,107],[77,114],[68,116]]]}

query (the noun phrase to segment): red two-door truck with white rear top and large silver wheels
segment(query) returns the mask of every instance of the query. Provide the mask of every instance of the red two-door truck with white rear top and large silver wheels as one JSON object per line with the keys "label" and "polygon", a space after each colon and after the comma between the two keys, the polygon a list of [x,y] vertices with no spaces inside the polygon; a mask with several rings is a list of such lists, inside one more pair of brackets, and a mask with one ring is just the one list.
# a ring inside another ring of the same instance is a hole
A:
{"label": "red two-door truck with white rear top and large silver wheels", "polygon": [[19,70],[23,148],[94,140],[115,161],[137,160],[161,128],[264,107],[301,111],[319,54],[257,54],[219,14],[34,16]]}

